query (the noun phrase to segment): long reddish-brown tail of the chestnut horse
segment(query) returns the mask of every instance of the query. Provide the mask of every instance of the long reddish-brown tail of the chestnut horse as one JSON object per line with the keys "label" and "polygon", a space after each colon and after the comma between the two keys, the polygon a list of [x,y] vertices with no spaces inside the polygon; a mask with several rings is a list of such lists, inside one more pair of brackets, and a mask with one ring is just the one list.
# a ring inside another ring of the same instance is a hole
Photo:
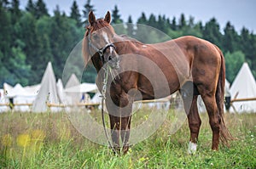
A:
{"label": "long reddish-brown tail of the chestnut horse", "polygon": [[218,86],[215,95],[215,99],[218,105],[218,115],[220,116],[220,140],[226,146],[230,146],[229,141],[235,138],[232,137],[231,133],[229,132],[228,128],[225,126],[224,122],[224,87],[225,87],[225,61],[224,61],[224,54],[221,50],[215,46],[218,50],[218,53],[221,56],[221,65],[220,71],[218,76]]}

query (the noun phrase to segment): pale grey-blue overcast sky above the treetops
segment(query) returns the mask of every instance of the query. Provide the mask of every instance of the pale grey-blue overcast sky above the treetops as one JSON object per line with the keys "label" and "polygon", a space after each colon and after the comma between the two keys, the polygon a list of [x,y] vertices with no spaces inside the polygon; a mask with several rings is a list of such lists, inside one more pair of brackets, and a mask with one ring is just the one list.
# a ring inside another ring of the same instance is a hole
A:
{"label": "pale grey-blue overcast sky above the treetops", "polygon": [[[33,0],[37,1],[37,0]],[[73,0],[44,0],[52,14],[58,4],[61,11],[70,14],[70,8]],[[84,8],[87,0],[77,0],[79,9]],[[20,0],[21,8],[26,6],[27,0]],[[148,17],[154,15],[166,14],[166,17],[172,19],[180,14],[185,14],[187,20],[193,16],[195,21],[201,20],[203,24],[215,17],[223,31],[227,21],[235,26],[236,31],[241,31],[245,26],[249,31],[256,33],[256,1],[255,0],[91,0],[91,4],[96,9],[96,17],[103,17],[107,11],[112,11],[116,4],[119,8],[121,17],[127,21],[131,15],[135,22],[141,16],[142,12]]]}

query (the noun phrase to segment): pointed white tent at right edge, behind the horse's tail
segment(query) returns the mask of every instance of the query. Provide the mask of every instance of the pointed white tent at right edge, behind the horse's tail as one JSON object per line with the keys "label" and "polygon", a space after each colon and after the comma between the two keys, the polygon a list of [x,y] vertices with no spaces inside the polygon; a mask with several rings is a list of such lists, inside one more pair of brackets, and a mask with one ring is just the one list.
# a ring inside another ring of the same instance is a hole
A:
{"label": "pointed white tent at right edge, behind the horse's tail", "polygon": [[[247,63],[241,66],[232,86],[230,87],[232,99],[251,99],[256,98],[256,82]],[[233,103],[234,108],[230,107],[230,112],[256,112],[255,101],[240,101]]]}

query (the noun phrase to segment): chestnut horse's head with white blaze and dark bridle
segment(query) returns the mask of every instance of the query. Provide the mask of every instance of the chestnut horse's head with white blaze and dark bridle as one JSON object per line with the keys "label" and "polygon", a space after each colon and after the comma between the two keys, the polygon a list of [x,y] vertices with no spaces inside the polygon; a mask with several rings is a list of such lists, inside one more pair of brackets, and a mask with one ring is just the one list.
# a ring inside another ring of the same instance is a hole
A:
{"label": "chestnut horse's head with white blaze and dark bridle", "polygon": [[87,45],[87,53],[92,57],[93,64],[104,65],[108,63],[113,68],[117,68],[119,66],[118,54],[113,44],[113,38],[116,34],[110,25],[110,13],[108,12],[104,19],[96,20],[95,15],[90,11],[88,20],[90,25],[87,27],[84,37],[87,44],[84,45]]}

